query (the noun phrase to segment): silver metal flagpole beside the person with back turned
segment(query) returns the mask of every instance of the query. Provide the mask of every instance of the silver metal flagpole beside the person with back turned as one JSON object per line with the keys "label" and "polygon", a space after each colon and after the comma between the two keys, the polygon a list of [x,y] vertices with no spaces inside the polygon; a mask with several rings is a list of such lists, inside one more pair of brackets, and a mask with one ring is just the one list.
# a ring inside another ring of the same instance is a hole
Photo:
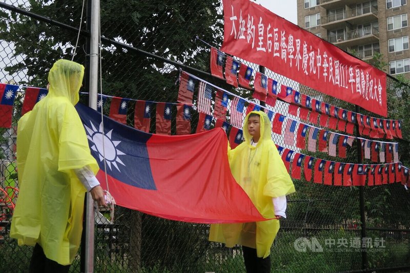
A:
{"label": "silver metal flagpole beside the person with back turned", "polygon": [[[88,105],[97,109],[98,94],[98,42],[99,42],[99,0],[91,0],[91,43],[90,43],[90,81]],[[87,194],[86,240],[85,240],[85,272],[94,271],[94,201]]]}

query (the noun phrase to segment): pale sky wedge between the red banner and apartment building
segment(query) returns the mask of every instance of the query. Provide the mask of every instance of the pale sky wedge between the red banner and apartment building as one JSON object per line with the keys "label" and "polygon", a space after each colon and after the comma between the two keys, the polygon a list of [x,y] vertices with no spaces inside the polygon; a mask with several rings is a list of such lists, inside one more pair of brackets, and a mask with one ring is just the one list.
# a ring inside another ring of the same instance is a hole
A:
{"label": "pale sky wedge between the red banner and apartment building", "polygon": [[256,0],[255,2],[293,24],[298,24],[296,0]]}

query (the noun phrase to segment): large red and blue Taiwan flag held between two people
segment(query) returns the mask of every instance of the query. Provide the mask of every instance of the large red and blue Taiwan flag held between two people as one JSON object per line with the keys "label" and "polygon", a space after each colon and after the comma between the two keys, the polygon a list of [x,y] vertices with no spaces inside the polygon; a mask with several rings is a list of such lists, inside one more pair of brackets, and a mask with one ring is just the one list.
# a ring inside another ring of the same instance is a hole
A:
{"label": "large red and blue Taiwan flag held between two people", "polygon": [[222,129],[155,135],[104,116],[103,130],[100,113],[80,103],[76,109],[100,167],[97,178],[106,189],[105,157],[109,191],[118,205],[185,222],[266,220],[231,174]]}

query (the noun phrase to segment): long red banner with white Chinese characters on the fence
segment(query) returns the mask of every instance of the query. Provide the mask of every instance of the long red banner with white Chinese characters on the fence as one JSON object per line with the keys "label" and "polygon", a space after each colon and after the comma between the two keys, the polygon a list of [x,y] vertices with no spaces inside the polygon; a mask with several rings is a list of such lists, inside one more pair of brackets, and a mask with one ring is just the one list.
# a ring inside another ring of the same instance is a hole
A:
{"label": "long red banner with white Chinese characters on the fence", "polygon": [[221,50],[386,116],[386,74],[249,0],[223,0]]}

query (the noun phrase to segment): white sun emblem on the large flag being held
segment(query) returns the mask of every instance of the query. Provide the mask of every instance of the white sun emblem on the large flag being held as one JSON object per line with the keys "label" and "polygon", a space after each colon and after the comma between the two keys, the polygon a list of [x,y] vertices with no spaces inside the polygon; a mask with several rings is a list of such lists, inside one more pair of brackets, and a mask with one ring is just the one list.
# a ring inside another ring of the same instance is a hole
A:
{"label": "white sun emblem on the large flag being held", "polygon": [[103,135],[104,131],[102,122],[99,124],[98,130],[95,128],[94,124],[91,121],[90,123],[91,128],[87,127],[87,125],[84,125],[84,127],[87,131],[87,138],[94,143],[94,145],[91,146],[91,150],[98,153],[98,157],[101,162],[103,162],[104,160],[105,151],[105,160],[110,170],[112,170],[111,165],[113,165],[119,172],[121,172],[118,168],[117,163],[122,164],[124,166],[125,164],[122,163],[121,159],[119,159],[118,156],[125,154],[116,148],[118,144],[121,143],[121,141],[111,140],[111,134],[113,130]]}

